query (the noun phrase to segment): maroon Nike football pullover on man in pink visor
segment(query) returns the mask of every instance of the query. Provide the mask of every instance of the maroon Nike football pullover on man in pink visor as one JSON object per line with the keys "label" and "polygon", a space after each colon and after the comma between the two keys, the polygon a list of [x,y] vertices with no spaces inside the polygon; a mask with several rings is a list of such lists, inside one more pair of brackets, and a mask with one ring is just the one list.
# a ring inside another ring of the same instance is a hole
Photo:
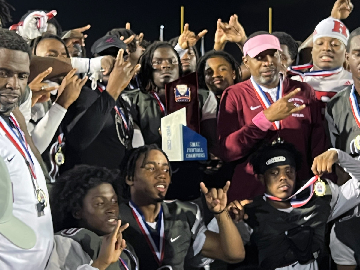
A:
{"label": "maroon Nike football pullover on man in pink visor", "polygon": [[[303,164],[298,179],[306,180],[312,175],[314,157],[325,151],[325,131],[321,122],[320,109],[314,89],[303,82],[285,78],[284,95],[301,88],[291,100],[306,108],[281,121],[280,137],[295,145],[303,155]],[[267,98],[272,102],[271,96]],[[256,180],[249,155],[263,143],[272,142],[278,136],[264,115],[264,108],[258,100],[251,80],[230,86],[222,94],[217,122],[222,158],[225,161],[238,160],[235,168],[228,201],[251,199],[264,194],[264,185]]]}

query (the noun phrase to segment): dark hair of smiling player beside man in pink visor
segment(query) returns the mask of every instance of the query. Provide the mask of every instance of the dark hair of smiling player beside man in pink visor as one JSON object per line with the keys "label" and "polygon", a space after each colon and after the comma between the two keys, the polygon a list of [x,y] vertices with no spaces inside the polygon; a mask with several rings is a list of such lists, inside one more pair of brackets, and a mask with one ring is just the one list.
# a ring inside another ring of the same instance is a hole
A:
{"label": "dark hair of smiling player beside man in pink visor", "polygon": [[199,89],[207,89],[207,86],[205,83],[206,61],[207,61],[207,59],[214,58],[214,57],[222,57],[226,61],[228,61],[229,64],[231,65],[231,68],[235,71],[236,78],[234,80],[234,84],[241,82],[240,65],[231,54],[228,54],[225,51],[208,51],[206,54],[204,54],[203,57],[201,57],[199,59],[199,62],[196,65],[196,71],[198,73]]}

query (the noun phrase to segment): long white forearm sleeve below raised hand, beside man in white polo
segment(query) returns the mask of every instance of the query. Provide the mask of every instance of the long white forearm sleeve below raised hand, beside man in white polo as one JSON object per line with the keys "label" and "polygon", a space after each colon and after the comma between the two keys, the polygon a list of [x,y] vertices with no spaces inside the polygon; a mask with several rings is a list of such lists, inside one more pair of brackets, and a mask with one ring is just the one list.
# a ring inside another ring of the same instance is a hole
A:
{"label": "long white forearm sleeve below raised hand, beside man in white polo", "polygon": [[39,123],[37,123],[35,128],[31,131],[32,140],[41,154],[44,153],[51,143],[66,112],[67,109],[63,108],[58,103],[54,103],[50,110],[46,112],[45,116],[42,117]]}

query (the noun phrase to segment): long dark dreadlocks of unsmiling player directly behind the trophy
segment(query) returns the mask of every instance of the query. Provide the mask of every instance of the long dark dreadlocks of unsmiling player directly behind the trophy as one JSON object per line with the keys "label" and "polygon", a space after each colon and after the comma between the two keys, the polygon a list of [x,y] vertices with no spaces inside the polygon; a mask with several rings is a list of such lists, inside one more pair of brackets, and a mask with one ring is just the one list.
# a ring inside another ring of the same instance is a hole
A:
{"label": "long dark dreadlocks of unsmiling player directly behind the trophy", "polygon": [[155,41],[151,44],[141,56],[139,63],[141,64],[141,68],[138,73],[139,81],[140,81],[140,89],[145,92],[151,92],[157,88],[153,79],[153,57],[154,52],[158,48],[171,48],[174,51],[177,62],[179,63],[179,77],[183,76],[183,66],[181,65],[181,60],[179,54],[174,49],[174,47],[168,43],[163,41]]}

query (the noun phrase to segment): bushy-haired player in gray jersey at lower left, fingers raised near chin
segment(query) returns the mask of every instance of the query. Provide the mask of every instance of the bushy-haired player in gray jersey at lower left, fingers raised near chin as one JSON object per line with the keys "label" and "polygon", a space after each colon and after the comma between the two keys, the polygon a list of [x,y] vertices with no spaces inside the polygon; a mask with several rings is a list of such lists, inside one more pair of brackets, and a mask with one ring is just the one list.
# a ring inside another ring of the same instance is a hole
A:
{"label": "bushy-haired player in gray jersey at lower left, fingers raised near chin", "polygon": [[[51,210],[54,231],[59,232],[46,270],[79,266],[93,270],[137,269],[135,253],[122,238],[129,224],[120,227],[114,187],[118,177],[118,170],[79,165],[58,179],[51,193]],[[111,238],[117,248],[109,252]]]}

